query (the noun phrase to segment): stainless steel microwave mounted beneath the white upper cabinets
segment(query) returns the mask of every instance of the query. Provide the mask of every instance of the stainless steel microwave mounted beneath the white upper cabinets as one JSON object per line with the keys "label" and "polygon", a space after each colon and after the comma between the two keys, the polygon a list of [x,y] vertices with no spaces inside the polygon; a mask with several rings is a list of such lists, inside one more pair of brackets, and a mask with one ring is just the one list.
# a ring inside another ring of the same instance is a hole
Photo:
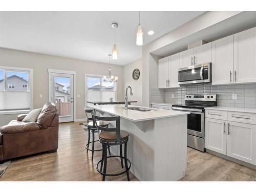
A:
{"label": "stainless steel microwave mounted beneath the white upper cabinets", "polygon": [[179,84],[198,84],[211,82],[211,63],[180,68],[178,77]]}

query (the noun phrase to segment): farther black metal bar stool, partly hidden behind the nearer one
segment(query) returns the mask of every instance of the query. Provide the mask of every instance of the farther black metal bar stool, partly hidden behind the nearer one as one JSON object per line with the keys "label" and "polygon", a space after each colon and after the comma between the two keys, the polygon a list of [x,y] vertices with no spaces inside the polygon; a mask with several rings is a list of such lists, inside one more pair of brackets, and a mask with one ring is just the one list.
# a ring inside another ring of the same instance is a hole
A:
{"label": "farther black metal bar stool, partly hidden behind the nearer one", "polygon": [[[88,151],[92,152],[92,161],[93,161],[93,155],[94,152],[98,152],[98,151],[102,151],[102,148],[95,150],[94,148],[94,144],[95,142],[98,142],[99,140],[95,140],[95,132],[97,132],[97,127],[96,124],[93,121],[93,110],[92,109],[84,109],[84,111],[86,112],[86,116],[87,116],[87,128],[88,128],[88,142],[86,144],[86,150],[87,153]],[[97,123],[102,126],[102,127],[108,127],[109,123],[108,122],[104,122],[104,121],[97,121]],[[91,133],[92,133],[92,141],[91,141]],[[90,143],[92,143],[92,148],[90,149]],[[110,154],[110,146],[108,146],[109,148],[109,154]]]}

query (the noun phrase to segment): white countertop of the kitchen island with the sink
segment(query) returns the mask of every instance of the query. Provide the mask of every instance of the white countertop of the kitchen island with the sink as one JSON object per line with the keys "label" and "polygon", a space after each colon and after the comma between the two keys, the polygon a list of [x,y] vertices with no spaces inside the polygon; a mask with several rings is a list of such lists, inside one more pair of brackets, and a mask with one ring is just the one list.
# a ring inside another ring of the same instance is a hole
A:
{"label": "white countertop of the kitchen island with the sink", "polygon": [[[129,105],[133,107],[134,105]],[[189,112],[173,111],[173,110],[162,110],[154,108],[146,108],[144,106],[136,106],[138,108],[150,109],[152,111],[141,112],[136,110],[125,110],[123,105],[90,105],[90,108],[96,109],[97,111],[102,111],[111,115],[120,116],[124,119],[131,121],[146,121],[152,119],[160,119],[167,117],[175,117],[180,115],[188,115]]]}

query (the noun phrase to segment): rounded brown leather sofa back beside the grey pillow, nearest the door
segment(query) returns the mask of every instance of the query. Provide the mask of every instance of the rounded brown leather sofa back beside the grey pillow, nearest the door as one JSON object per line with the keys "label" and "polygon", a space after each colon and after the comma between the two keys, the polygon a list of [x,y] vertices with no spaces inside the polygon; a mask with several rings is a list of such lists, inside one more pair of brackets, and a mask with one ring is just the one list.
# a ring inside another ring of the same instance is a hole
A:
{"label": "rounded brown leather sofa back beside the grey pillow, nearest the door", "polygon": [[56,114],[57,108],[55,104],[51,102],[46,103],[36,121],[39,124],[40,129],[46,129],[49,127]]}

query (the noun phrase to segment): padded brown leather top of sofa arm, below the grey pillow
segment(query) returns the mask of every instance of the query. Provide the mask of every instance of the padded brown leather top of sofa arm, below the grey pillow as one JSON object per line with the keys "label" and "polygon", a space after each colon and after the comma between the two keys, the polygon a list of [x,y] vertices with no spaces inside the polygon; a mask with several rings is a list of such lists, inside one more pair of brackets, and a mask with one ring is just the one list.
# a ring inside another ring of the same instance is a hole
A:
{"label": "padded brown leather top of sofa arm, below the grey pillow", "polygon": [[22,122],[12,120],[8,125],[2,126],[0,129],[1,134],[13,134],[21,132],[29,132],[39,130],[40,127],[35,122]]}

